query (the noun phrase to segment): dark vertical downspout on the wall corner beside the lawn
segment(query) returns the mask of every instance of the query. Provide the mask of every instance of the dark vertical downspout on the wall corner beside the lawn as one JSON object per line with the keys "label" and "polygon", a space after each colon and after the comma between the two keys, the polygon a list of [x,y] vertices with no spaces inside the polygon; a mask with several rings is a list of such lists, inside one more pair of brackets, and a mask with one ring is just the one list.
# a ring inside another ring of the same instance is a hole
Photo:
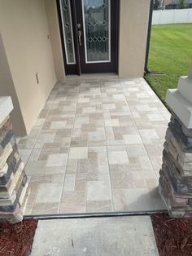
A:
{"label": "dark vertical downspout on the wall corner beside the lawn", "polygon": [[152,25],[152,15],[153,15],[153,2],[150,2],[150,14],[149,14],[149,23],[148,23],[148,32],[146,39],[146,60],[145,60],[145,73],[151,73],[151,70],[148,69],[148,61],[149,61],[149,52],[150,52],[150,39],[151,39],[151,25]]}

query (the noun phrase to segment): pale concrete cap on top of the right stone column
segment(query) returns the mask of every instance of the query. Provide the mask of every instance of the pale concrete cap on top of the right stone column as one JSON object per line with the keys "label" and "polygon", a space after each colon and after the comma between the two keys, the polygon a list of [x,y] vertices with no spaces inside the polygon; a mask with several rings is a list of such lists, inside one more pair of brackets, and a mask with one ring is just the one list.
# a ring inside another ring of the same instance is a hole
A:
{"label": "pale concrete cap on top of the right stone column", "polygon": [[186,128],[192,128],[192,104],[177,89],[168,89],[166,101]]}

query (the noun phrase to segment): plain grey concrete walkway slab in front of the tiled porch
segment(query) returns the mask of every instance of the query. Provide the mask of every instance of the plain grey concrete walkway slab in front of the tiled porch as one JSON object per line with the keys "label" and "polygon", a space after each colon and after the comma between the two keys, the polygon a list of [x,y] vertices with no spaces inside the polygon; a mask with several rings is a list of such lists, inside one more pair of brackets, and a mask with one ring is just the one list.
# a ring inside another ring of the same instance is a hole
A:
{"label": "plain grey concrete walkway slab in front of the tiled porch", "polygon": [[31,256],[157,256],[151,218],[39,221]]}

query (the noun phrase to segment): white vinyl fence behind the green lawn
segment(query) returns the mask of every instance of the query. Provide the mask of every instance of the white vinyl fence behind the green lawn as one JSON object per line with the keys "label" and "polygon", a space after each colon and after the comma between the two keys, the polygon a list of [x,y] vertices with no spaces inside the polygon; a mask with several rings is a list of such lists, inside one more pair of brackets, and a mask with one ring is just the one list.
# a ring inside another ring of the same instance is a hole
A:
{"label": "white vinyl fence behind the green lawn", "polygon": [[192,23],[192,9],[153,11],[153,25],[173,23]]}

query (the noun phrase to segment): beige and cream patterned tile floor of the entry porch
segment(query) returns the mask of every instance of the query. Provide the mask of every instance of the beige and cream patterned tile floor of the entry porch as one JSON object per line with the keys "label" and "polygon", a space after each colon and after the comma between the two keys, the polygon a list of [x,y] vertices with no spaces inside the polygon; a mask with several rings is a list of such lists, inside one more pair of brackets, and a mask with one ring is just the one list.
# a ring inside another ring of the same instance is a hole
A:
{"label": "beige and cream patterned tile floor of the entry porch", "polygon": [[143,78],[68,78],[19,140],[31,193],[25,214],[161,210],[170,114]]}

